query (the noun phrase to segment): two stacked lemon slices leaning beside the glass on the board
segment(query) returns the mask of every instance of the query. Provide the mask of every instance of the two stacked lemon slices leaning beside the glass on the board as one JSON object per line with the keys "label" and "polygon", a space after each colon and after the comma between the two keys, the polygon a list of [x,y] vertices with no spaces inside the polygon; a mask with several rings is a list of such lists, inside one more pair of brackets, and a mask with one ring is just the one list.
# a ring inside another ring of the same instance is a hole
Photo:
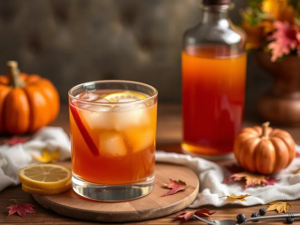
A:
{"label": "two stacked lemon slices leaning beside the glass on the board", "polygon": [[72,171],[55,164],[39,164],[19,170],[19,180],[28,188],[53,190],[72,183]]}

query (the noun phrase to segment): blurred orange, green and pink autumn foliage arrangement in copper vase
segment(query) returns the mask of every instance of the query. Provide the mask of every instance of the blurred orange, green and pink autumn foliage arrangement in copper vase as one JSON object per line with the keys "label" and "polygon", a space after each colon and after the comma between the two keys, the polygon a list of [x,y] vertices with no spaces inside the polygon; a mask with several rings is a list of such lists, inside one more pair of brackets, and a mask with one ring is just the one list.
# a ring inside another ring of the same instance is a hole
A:
{"label": "blurred orange, green and pink autumn foliage arrangement in copper vase", "polygon": [[241,11],[247,49],[271,53],[271,61],[300,55],[300,0],[248,0]]}

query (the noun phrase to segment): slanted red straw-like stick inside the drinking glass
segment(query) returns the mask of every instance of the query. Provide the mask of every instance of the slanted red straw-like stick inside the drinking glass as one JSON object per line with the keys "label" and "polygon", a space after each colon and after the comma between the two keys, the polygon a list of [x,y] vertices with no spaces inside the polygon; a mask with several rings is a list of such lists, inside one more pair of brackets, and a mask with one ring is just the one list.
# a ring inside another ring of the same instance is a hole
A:
{"label": "slanted red straw-like stick inside the drinking glass", "polygon": [[91,136],[88,134],[88,130],[85,128],[76,107],[71,103],[69,105],[70,105],[70,111],[72,113],[72,116],[75,120],[75,123],[76,123],[76,125],[77,125],[77,127],[78,127],[78,129],[79,129],[86,145],[88,146],[88,148],[90,149],[91,153],[94,156],[100,155],[99,151],[98,151],[98,148],[95,145],[95,143],[94,143],[93,139],[91,138]]}

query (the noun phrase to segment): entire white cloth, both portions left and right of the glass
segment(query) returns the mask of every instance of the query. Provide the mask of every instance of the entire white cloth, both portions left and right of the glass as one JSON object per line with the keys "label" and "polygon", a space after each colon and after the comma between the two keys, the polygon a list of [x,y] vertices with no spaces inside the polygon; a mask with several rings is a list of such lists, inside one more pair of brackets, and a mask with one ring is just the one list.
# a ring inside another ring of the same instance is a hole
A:
{"label": "entire white cloth, both portions left and right of the glass", "polygon": [[[296,146],[296,148],[300,151],[300,146]],[[19,169],[39,163],[33,155],[41,156],[44,149],[49,152],[59,149],[61,160],[70,158],[70,139],[62,128],[44,127],[24,144],[0,146],[0,191],[7,186],[19,184]],[[197,199],[190,205],[191,208],[202,205],[222,206],[226,204],[250,206],[300,198],[300,173],[292,173],[299,168],[300,158],[295,158],[288,168],[275,177],[280,179],[280,182],[265,187],[248,187],[244,191],[243,182],[222,184],[225,176],[229,175],[230,172],[226,167],[221,167],[214,162],[190,155],[160,151],[156,153],[156,161],[184,165],[196,173],[199,178],[200,189]],[[243,202],[238,200],[231,202],[226,198],[219,198],[219,196],[233,193],[236,195],[251,194],[252,196],[247,197],[246,201]]]}

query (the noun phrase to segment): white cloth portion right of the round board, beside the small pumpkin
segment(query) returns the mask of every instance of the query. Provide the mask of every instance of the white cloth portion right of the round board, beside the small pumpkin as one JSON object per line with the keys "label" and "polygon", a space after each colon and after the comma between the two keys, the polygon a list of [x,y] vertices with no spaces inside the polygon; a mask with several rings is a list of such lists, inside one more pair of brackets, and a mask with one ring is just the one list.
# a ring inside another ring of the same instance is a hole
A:
{"label": "white cloth portion right of the round board, beside the small pumpkin", "polygon": [[[296,146],[299,149],[300,146]],[[207,161],[199,157],[181,155],[176,153],[156,152],[156,162],[175,163],[189,167],[199,178],[200,188],[197,199],[190,205],[190,208],[198,208],[203,205],[222,206],[226,204],[237,205],[258,205],[267,204],[272,201],[290,201],[300,198],[300,173],[293,174],[292,171],[300,167],[300,158],[295,158],[291,165],[280,172],[276,179],[279,182],[274,185],[264,187],[248,187],[243,191],[245,182],[234,182],[222,184],[225,176],[230,175],[226,167]],[[228,201],[226,197],[231,194],[242,195],[250,194],[246,201]]]}

